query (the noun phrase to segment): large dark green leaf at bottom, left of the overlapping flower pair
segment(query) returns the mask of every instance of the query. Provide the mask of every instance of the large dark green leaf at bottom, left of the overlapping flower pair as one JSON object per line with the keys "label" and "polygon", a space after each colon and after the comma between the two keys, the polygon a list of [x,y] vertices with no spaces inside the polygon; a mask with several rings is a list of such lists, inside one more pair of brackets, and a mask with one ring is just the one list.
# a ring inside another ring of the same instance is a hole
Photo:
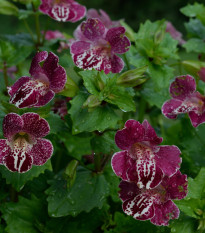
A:
{"label": "large dark green leaf at bottom, left of the overlapping flower pair", "polygon": [[53,217],[66,215],[76,216],[82,211],[102,208],[109,193],[107,182],[103,175],[78,167],[76,181],[72,188],[66,188],[66,181],[58,175],[50,182],[48,194],[48,213]]}

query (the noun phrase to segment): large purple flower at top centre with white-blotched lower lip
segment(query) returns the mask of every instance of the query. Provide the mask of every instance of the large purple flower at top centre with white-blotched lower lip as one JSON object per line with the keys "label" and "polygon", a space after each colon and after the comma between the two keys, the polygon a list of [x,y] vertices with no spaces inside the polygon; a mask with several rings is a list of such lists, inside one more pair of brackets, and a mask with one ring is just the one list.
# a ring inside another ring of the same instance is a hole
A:
{"label": "large purple flower at top centre with white-blotched lower lip", "polygon": [[116,56],[129,50],[130,41],[124,27],[106,29],[99,19],[88,19],[75,34],[77,41],[71,45],[74,63],[84,70],[104,70],[107,74],[119,73],[123,60]]}

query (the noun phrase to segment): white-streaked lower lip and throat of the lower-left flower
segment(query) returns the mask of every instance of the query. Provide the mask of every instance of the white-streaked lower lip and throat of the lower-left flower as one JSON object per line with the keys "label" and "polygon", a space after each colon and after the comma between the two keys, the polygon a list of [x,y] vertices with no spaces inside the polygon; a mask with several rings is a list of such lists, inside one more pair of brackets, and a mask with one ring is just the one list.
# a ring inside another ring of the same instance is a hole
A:
{"label": "white-streaked lower lip and throat of the lower-left flower", "polygon": [[11,153],[3,157],[3,164],[13,172],[26,172],[31,169],[33,159],[29,155],[30,145],[23,138],[18,138]]}

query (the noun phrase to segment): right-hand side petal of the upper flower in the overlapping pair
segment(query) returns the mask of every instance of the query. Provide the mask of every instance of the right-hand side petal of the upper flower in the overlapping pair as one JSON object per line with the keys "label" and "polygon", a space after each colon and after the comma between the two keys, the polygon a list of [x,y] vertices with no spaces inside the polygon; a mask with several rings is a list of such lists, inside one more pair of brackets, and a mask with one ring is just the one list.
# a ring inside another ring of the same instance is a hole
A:
{"label": "right-hand side petal of the upper flower in the overlapping pair", "polygon": [[177,146],[158,146],[156,147],[155,161],[165,175],[172,176],[179,170],[182,159],[181,151]]}

